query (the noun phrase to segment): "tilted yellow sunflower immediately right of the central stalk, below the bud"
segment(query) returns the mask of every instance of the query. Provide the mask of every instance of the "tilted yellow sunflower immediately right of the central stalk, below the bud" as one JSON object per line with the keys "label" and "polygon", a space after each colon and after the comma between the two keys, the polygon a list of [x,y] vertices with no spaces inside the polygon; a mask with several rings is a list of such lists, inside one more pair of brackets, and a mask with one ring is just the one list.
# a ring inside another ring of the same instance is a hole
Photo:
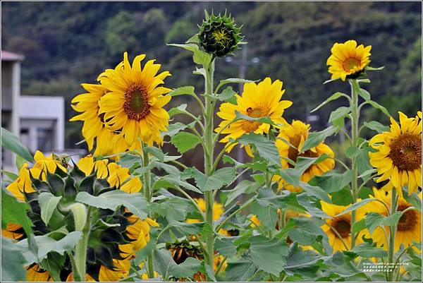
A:
{"label": "tilted yellow sunflower immediately right of the central stalk, below the bud", "polygon": [[[251,118],[262,118],[269,116],[274,124],[286,124],[282,115],[285,109],[291,106],[293,102],[281,100],[285,90],[282,90],[281,80],[275,80],[273,83],[270,78],[265,78],[262,82],[245,83],[243,95],[235,95],[237,104],[229,102],[221,104],[217,116],[223,121],[215,129],[216,132],[228,134],[220,140],[221,143],[227,143],[227,152],[230,152],[237,143],[231,142],[243,136],[245,133],[269,133],[270,125],[259,121],[248,121],[240,119],[232,123],[235,119],[235,112],[250,116]],[[248,152],[251,155],[251,152]]]}

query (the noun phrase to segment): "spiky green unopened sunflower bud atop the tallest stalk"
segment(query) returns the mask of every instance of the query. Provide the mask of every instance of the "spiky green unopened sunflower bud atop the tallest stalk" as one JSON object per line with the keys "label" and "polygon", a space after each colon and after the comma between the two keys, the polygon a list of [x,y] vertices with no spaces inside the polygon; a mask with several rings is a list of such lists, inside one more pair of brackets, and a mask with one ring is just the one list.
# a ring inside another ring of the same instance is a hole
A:
{"label": "spiky green unopened sunflower bud atop the tallest stalk", "polygon": [[234,19],[231,15],[226,16],[226,12],[223,16],[220,13],[209,16],[206,11],[206,20],[203,20],[198,34],[200,45],[216,57],[233,54],[243,40],[240,30],[241,27],[237,28]]}

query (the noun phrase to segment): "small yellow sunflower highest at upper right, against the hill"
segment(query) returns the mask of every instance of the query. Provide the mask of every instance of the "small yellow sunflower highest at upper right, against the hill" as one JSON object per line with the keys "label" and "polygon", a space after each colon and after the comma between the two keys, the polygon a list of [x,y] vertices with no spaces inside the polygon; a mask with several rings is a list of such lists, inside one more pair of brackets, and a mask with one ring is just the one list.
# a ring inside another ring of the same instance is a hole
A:
{"label": "small yellow sunflower highest at upper right, against the hill", "polygon": [[364,67],[370,62],[370,49],[372,45],[364,47],[357,46],[355,40],[348,40],[344,43],[335,43],[331,48],[331,56],[326,64],[329,65],[331,79],[355,78],[360,75]]}

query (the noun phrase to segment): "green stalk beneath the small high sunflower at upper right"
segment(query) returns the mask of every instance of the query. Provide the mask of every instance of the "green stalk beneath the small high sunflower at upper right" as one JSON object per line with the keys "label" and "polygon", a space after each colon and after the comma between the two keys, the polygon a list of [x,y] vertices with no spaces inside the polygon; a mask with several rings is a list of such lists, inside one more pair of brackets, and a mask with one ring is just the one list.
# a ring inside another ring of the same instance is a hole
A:
{"label": "green stalk beneath the small high sunflower at upper right", "polygon": [[[357,80],[350,80],[351,85],[351,146],[358,147],[358,120],[359,120],[359,113],[358,113],[358,90],[360,86],[357,83]],[[354,156],[351,159],[351,170],[353,171],[353,181],[351,183],[351,195],[353,196],[353,203],[357,202],[357,187],[358,187],[358,180],[357,180],[357,157]],[[351,227],[355,223],[355,215],[356,212],[353,210],[351,212]],[[355,246],[355,233],[351,231],[351,248]]]}

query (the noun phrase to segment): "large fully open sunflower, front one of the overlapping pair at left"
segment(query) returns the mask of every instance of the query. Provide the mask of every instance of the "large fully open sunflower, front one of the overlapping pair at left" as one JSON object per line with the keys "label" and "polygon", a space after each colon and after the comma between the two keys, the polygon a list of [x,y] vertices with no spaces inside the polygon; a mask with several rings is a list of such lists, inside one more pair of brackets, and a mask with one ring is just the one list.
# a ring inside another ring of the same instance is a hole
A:
{"label": "large fully open sunflower, front one of the overlapping pair at left", "polygon": [[169,115],[162,107],[171,97],[165,95],[168,88],[159,87],[168,71],[160,73],[160,65],[154,60],[147,61],[141,68],[145,55],[136,56],[132,67],[128,53],[123,54],[123,64],[119,68],[108,69],[99,76],[100,83],[110,90],[99,100],[99,115],[110,131],[120,131],[128,146],[138,138],[152,145],[162,143],[160,131],[167,131]]}

